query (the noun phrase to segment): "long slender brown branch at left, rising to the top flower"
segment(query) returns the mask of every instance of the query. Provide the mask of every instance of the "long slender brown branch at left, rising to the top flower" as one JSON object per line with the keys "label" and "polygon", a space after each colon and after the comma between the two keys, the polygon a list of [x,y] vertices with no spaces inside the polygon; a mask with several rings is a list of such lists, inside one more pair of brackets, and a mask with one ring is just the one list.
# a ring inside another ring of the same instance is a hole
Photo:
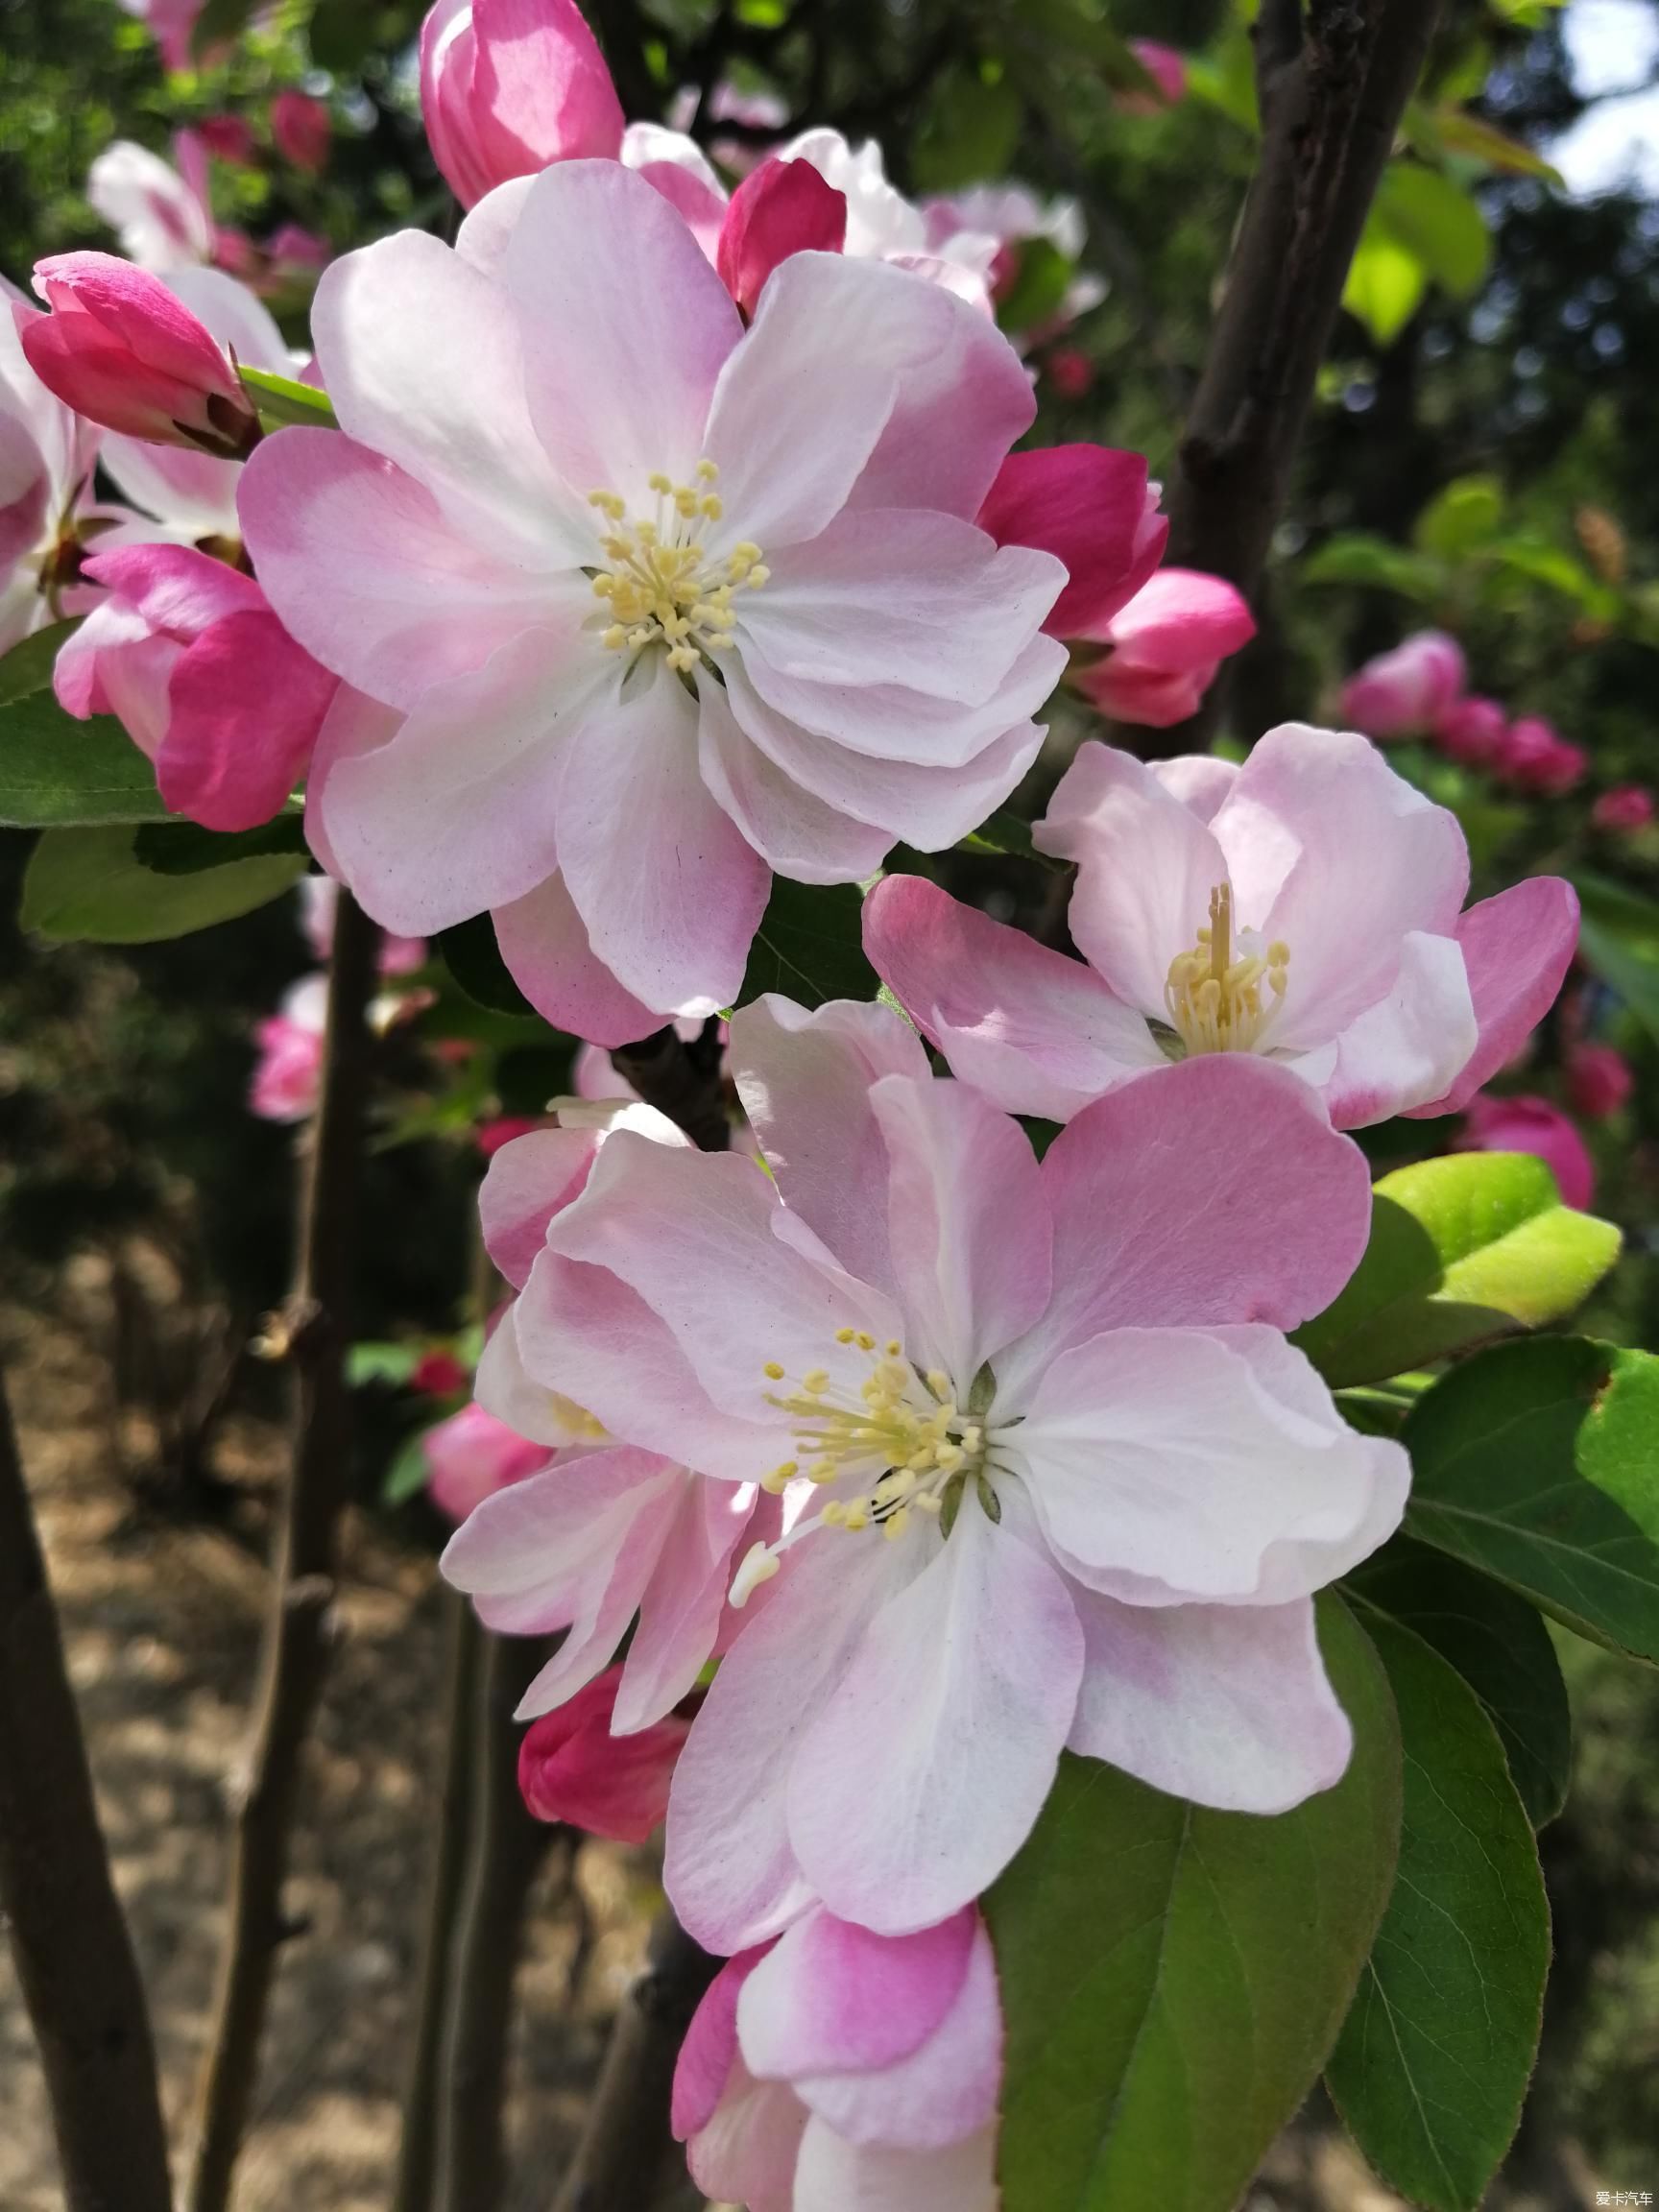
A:
{"label": "long slender brown branch at left, rising to the top flower", "polygon": [[294,1363],[294,1462],[283,1500],[257,1719],[239,1785],[228,1933],[197,2086],[188,2212],[223,2212],[248,2126],[305,1736],[323,1692],[334,1551],[349,1449],[345,1349],[369,1084],[367,1006],[380,931],[341,891],[330,960],[323,1084],[301,1199],[294,1294],[270,1343]]}

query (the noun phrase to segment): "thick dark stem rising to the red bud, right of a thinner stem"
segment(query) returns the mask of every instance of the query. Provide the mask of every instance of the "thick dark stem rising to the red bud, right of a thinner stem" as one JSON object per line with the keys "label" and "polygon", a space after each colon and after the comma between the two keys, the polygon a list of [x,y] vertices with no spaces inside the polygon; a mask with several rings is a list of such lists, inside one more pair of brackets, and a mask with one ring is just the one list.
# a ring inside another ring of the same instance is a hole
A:
{"label": "thick dark stem rising to the red bud, right of a thinner stem", "polygon": [[495,2212],[507,2188],[507,2048],[524,1905],[555,1834],[518,1794],[518,1705],[544,1637],[487,1637],[471,1712],[469,1843],[438,2081],[438,2212]]}

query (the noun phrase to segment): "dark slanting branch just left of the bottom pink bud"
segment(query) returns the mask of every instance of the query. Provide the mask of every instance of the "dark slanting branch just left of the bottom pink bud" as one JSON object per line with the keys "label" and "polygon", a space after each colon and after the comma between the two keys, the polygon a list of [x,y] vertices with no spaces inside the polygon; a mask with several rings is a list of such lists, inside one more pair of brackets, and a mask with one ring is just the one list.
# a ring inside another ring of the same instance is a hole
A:
{"label": "dark slanting branch just left of the bottom pink bud", "polygon": [[617,2013],[582,2141],[553,2212],[648,2212],[672,2170],[668,2101],[675,2062],[719,1964],[672,1913],[659,1916],[646,1971]]}

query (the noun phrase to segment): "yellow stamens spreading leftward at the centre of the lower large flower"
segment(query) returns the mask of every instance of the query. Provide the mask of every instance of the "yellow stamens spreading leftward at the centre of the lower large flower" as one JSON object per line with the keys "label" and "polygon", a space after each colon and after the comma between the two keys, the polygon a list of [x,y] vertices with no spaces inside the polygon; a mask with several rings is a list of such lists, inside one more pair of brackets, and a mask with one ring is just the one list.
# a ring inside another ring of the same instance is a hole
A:
{"label": "yellow stamens spreading leftward at the centre of the lower large flower", "polygon": [[[768,1391],[768,1405],[794,1422],[796,1458],[783,1460],[763,1480],[779,1493],[796,1482],[818,1486],[849,1482],[849,1495],[825,1500],[812,1515],[796,1520],[779,1544],[754,1544],[732,1582],[732,1604],[770,1582],[790,1544],[814,1528],[880,1528],[896,1542],[914,1513],[947,1515],[951,1493],[971,1478],[984,1475],[987,1436],[975,1385],[969,1407],[956,1402],[951,1378],[933,1367],[920,1374],[902,1356],[898,1340],[876,1345],[867,1329],[838,1329],[836,1343],[856,1347],[869,1358],[869,1376],[852,1387],[836,1387],[830,1371],[814,1367],[792,1391]],[[765,1363],[768,1383],[785,1383],[776,1360]],[[947,1522],[949,1526],[949,1522]]]}

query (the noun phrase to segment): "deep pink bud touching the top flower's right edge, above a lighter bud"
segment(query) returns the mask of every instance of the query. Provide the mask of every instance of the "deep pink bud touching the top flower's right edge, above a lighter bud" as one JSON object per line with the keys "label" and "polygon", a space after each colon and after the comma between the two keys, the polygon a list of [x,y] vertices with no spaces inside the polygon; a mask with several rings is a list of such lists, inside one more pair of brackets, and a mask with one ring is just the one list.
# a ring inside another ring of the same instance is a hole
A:
{"label": "deep pink bud touching the top flower's right edge, above a lighter bud", "polygon": [[1170,524],[1157,502],[1139,453],[1055,445],[1009,453],[978,524],[1000,546],[1040,546],[1066,564],[1044,622],[1051,637],[1104,637],[1164,560]]}

